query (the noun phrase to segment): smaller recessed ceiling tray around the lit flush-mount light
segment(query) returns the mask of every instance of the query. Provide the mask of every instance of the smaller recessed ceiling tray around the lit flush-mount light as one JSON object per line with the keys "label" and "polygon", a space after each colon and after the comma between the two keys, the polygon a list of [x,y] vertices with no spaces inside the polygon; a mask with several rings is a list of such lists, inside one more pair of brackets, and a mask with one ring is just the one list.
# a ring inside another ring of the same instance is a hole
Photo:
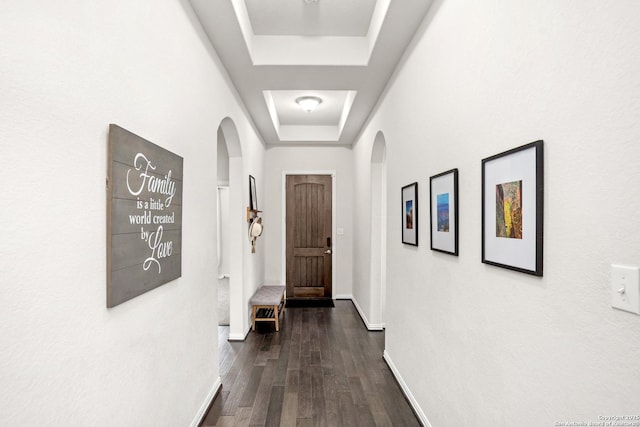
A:
{"label": "smaller recessed ceiling tray around the lit flush-mount light", "polygon": [[[265,90],[264,100],[273,127],[282,142],[337,142],[356,98],[353,90]],[[300,108],[297,100],[322,100],[313,112]]]}

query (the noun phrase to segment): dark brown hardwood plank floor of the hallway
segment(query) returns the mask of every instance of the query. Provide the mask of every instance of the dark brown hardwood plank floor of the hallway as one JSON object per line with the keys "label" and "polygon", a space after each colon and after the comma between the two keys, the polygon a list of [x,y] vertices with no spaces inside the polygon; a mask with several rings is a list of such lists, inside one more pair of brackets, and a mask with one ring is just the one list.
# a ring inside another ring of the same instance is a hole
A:
{"label": "dark brown hardwood plank floor of the hallway", "polygon": [[220,327],[222,390],[203,426],[419,426],[351,301],[287,308],[244,342]]}

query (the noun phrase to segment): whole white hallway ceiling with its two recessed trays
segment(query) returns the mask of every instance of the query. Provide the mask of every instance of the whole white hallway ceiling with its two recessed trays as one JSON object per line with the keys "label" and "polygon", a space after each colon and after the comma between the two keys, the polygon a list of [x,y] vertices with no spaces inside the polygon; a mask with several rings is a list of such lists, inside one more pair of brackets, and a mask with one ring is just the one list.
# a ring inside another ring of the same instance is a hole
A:
{"label": "whole white hallway ceiling with its two recessed trays", "polygon": [[431,0],[191,4],[267,145],[351,145]]}

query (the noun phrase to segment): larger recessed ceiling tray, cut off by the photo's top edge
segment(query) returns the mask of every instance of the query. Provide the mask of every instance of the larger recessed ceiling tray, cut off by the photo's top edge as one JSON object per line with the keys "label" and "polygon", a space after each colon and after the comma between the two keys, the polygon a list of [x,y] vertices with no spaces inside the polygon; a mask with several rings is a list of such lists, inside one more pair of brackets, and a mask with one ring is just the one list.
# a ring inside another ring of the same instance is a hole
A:
{"label": "larger recessed ceiling tray, cut off by the photo's top edge", "polygon": [[231,2],[253,65],[367,65],[391,0]]}

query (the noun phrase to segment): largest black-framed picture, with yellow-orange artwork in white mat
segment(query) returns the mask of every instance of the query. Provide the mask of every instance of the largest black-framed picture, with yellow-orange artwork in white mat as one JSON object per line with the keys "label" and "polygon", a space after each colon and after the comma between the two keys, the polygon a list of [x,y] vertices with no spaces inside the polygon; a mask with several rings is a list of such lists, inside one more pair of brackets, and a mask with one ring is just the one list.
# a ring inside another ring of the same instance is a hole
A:
{"label": "largest black-framed picture, with yellow-orange artwork in white mat", "polygon": [[542,276],[543,142],[482,160],[482,262]]}

